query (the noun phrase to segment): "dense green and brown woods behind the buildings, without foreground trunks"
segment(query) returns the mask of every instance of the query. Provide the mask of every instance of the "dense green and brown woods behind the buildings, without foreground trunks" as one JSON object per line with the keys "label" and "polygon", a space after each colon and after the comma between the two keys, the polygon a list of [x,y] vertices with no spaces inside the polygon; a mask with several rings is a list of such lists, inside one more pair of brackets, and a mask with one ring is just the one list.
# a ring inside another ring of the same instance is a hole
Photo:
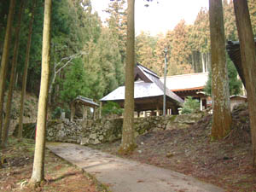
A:
{"label": "dense green and brown woods behind the buildings, without foreground trunks", "polygon": [[[248,3],[255,34],[256,1],[249,0]],[[15,15],[19,12],[19,8],[20,1],[16,3]],[[69,102],[78,95],[100,99],[120,84],[124,84],[127,26],[125,8],[124,0],[109,1],[109,8],[106,9],[109,17],[102,23],[99,15],[93,13],[90,0],[83,3],[73,0],[53,1],[49,88],[49,102],[52,103],[53,108],[59,106],[68,110]],[[0,55],[3,52],[8,10],[9,1],[0,1]],[[26,1],[20,30],[16,89],[21,89],[31,17],[32,1]],[[38,95],[41,75],[43,18],[44,1],[38,0],[27,76],[27,90],[36,95]],[[14,29],[17,22],[18,17],[15,17]],[[228,0],[224,0],[224,26],[226,39],[238,40],[233,3]],[[13,32],[12,42],[14,41]],[[13,57],[14,44],[11,46],[9,61]],[[162,76],[165,47],[169,50],[167,75],[200,73],[209,70],[208,10],[202,8],[193,25],[187,25],[184,20],[180,20],[177,26],[166,34],[159,34],[156,37],[150,36],[148,32],[137,34],[136,60]],[[231,75],[236,77],[235,67],[230,61],[229,65],[234,71]],[[10,69],[7,77],[9,84]]]}

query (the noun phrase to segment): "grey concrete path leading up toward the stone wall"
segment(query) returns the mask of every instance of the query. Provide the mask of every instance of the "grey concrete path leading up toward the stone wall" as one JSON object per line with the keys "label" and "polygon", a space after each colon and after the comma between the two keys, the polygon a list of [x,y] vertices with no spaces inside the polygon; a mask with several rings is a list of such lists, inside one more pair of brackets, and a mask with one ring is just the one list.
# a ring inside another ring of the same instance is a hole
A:
{"label": "grey concrete path leading up toward the stone wall", "polygon": [[178,172],[125,160],[77,144],[47,143],[47,148],[94,175],[113,192],[224,191]]}

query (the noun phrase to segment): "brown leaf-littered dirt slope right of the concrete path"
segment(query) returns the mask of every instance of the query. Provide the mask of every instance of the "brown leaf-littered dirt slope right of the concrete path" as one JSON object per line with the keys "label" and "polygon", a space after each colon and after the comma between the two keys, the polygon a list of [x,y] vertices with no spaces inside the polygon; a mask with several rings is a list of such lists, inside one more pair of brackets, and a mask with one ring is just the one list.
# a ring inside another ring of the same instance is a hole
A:
{"label": "brown leaf-littered dirt slope right of the concrete path", "polygon": [[[211,141],[211,115],[188,129],[148,132],[137,137],[137,148],[123,156],[196,177],[226,191],[256,191],[247,108],[232,114],[230,135]],[[117,154],[120,142],[94,148]]]}

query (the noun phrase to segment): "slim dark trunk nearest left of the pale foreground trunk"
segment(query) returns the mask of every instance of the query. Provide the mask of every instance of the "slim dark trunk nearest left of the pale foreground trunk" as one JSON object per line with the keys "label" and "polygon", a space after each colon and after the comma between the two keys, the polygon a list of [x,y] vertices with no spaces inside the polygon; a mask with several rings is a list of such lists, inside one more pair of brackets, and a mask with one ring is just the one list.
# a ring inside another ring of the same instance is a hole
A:
{"label": "slim dark trunk nearest left of the pale foreground trunk", "polygon": [[19,119],[19,131],[18,131],[18,138],[22,138],[22,130],[23,130],[23,113],[24,113],[24,101],[26,96],[26,76],[27,76],[27,68],[29,65],[29,56],[30,56],[30,47],[31,47],[31,40],[32,40],[32,26],[34,21],[34,13],[35,13],[35,6],[36,0],[33,0],[32,4],[32,18],[29,23],[29,31],[28,31],[28,39],[26,44],[26,59],[25,59],[25,66],[22,76],[22,90],[21,90],[21,98],[20,98],[20,119]]}

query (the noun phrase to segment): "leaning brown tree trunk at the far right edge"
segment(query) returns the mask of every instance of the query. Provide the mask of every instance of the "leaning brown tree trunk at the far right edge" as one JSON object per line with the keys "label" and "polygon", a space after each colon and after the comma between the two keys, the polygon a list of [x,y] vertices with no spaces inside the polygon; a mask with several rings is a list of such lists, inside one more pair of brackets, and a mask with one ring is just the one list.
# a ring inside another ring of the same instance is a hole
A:
{"label": "leaning brown tree trunk at the far right edge", "polygon": [[253,167],[256,166],[256,50],[247,1],[234,0],[236,26],[240,41],[241,67],[245,74],[253,143]]}

